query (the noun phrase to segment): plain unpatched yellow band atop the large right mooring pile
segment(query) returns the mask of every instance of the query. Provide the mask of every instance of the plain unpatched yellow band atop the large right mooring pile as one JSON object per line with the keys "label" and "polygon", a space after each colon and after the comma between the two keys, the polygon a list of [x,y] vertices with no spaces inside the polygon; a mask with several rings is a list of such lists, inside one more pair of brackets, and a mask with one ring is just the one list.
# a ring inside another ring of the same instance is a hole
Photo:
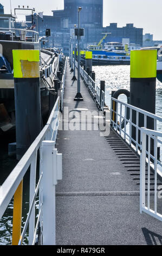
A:
{"label": "plain unpatched yellow band atop the large right mooring pile", "polygon": [[131,51],[131,78],[157,77],[157,50]]}

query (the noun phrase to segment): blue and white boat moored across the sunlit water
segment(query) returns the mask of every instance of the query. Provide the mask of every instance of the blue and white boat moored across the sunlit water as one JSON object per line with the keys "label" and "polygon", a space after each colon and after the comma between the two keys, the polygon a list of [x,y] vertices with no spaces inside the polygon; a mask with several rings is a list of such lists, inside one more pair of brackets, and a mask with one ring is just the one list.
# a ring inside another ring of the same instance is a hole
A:
{"label": "blue and white boat moored across the sunlit water", "polygon": [[91,45],[88,51],[92,51],[93,65],[130,65],[127,44],[122,46],[120,42],[108,42],[104,49],[101,45]]}

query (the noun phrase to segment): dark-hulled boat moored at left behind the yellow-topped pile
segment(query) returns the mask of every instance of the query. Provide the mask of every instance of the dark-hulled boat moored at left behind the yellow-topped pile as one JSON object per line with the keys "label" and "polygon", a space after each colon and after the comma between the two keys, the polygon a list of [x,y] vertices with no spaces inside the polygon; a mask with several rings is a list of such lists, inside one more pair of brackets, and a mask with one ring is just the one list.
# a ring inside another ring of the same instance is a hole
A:
{"label": "dark-hulled boat moored at left behind the yellow-topped pile", "polygon": [[[0,28],[0,135],[15,135],[15,96],[12,50],[40,50],[37,32],[25,29]],[[49,114],[49,88],[53,87],[54,72],[59,65],[59,54],[40,50],[40,91],[42,125]],[[46,81],[42,79],[46,73]]]}

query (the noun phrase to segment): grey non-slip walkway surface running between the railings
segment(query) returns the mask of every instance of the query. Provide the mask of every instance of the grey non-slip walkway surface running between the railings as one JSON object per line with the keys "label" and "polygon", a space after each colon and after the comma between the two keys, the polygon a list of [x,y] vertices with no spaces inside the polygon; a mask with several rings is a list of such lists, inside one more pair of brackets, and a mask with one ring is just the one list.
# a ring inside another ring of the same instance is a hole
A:
{"label": "grey non-slip walkway surface running between the railings", "polygon": [[[74,101],[77,82],[67,64],[64,106],[98,111],[81,80],[83,102]],[[88,120],[89,121],[89,120]],[[67,117],[63,123],[68,124]],[[139,212],[139,186],[98,131],[59,131],[63,179],[56,186],[57,245],[158,245],[162,223]]]}

